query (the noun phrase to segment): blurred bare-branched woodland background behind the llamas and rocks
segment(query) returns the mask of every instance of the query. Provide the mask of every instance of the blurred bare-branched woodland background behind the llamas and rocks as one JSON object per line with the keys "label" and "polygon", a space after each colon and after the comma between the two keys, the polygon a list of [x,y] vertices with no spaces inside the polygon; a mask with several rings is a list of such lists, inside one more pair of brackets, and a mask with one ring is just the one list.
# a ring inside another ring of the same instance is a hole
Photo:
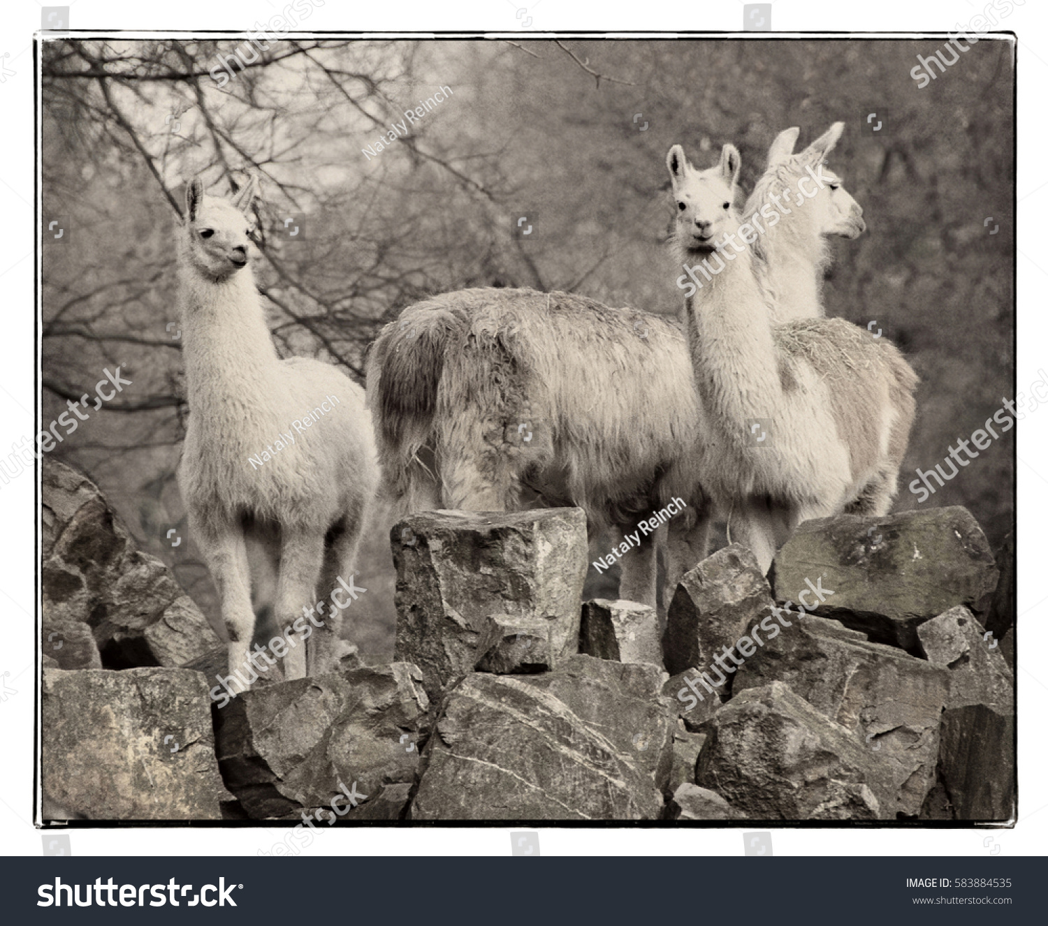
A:
{"label": "blurred bare-branched woodland background behind the llamas and rocks", "polygon": [[[192,537],[167,538],[172,527],[187,537],[174,483],[188,409],[173,235],[190,177],[224,195],[245,171],[259,175],[255,268],[278,350],[361,381],[380,326],[446,290],[562,289],[676,313],[670,146],[705,167],[735,142],[745,194],[778,132],[799,126],[802,147],[840,119],[830,167],[869,230],[833,242],[824,300],[830,315],[877,319],[921,377],[896,504],[914,508],[914,468],[940,462],[1013,396],[1012,47],[982,41],[918,89],[916,56],[940,45],[47,42],[43,219],[68,230],[43,251],[42,426],[105,367],[133,381],[53,453],[99,483],[218,627]],[[220,86],[210,72],[237,47],[250,63],[231,65]],[[407,137],[364,155],[440,86],[451,95]],[[882,132],[868,131],[870,112],[888,116]],[[511,234],[521,215],[527,239]],[[281,234],[289,216],[300,240]],[[967,506],[995,547],[1013,516],[1013,437],[925,503]],[[373,658],[392,654],[390,526],[377,512],[357,569],[371,594],[347,621]]]}

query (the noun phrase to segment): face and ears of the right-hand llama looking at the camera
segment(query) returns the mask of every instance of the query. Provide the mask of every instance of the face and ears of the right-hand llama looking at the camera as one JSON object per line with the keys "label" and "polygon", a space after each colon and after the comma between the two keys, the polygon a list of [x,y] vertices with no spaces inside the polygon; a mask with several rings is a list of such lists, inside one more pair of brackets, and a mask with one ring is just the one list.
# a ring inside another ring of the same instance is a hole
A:
{"label": "face and ears of the right-hand llama looking at the camera", "polygon": [[677,244],[685,253],[711,253],[716,239],[739,226],[735,212],[735,188],[742,163],[734,145],[721,150],[720,162],[697,171],[674,145],[665,156],[677,204]]}

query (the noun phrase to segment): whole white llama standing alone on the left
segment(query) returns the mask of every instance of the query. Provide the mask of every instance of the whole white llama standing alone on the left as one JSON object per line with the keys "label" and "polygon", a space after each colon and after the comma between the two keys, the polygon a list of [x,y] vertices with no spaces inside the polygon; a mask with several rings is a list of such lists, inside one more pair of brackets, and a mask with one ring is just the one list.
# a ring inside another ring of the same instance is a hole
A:
{"label": "whole white llama standing alone on the left", "polygon": [[231,678],[244,673],[238,690],[257,675],[253,578],[260,614],[271,596],[285,677],[336,663],[341,611],[303,615],[318,588],[349,576],[378,482],[364,390],[328,363],[277,356],[248,263],[255,186],[226,201],[194,178],[178,239],[190,406],[178,485],[217,587]]}

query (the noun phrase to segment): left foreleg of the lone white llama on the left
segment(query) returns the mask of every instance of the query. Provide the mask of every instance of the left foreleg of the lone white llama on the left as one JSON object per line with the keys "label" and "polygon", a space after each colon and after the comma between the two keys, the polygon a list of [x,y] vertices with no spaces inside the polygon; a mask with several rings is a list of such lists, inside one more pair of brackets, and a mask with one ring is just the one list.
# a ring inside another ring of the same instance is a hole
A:
{"label": "left foreleg of the lone white llama on the left", "polygon": [[232,524],[216,528],[192,511],[190,529],[218,590],[222,620],[230,637],[226,671],[230,674],[231,689],[239,694],[246,691],[250,681],[257,677],[248,659],[255,612],[252,610],[250,570],[244,535]]}

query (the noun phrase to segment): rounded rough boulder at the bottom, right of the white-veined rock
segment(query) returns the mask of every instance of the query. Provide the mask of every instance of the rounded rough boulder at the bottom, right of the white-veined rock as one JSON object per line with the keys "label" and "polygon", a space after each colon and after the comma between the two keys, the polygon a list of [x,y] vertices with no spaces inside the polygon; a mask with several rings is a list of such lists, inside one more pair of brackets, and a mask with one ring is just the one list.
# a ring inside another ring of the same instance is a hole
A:
{"label": "rounded rough boulder at the bottom, right of the white-veined rock", "polygon": [[782,682],[736,694],[705,724],[695,782],[764,820],[875,820],[870,753]]}

